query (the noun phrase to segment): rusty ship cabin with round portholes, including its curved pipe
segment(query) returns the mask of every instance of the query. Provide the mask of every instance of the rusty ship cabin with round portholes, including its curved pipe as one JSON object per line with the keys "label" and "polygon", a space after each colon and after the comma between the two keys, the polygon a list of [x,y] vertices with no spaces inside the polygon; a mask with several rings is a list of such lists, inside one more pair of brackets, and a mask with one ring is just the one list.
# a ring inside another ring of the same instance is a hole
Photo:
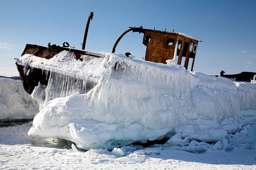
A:
{"label": "rusty ship cabin with round portholes, including its curved pipe", "polygon": [[[143,44],[147,47],[145,60],[166,64],[166,60],[177,60],[177,64],[181,65],[184,62],[186,70],[189,66],[189,59],[192,60],[191,71],[195,63],[195,54],[198,47],[198,42],[202,42],[196,38],[183,33],[175,33],[168,31],[158,31],[145,29],[140,27],[129,27],[117,40],[113,46],[112,53],[116,51],[116,45],[122,37],[128,32],[143,33]],[[174,30],[173,30],[174,31]]]}

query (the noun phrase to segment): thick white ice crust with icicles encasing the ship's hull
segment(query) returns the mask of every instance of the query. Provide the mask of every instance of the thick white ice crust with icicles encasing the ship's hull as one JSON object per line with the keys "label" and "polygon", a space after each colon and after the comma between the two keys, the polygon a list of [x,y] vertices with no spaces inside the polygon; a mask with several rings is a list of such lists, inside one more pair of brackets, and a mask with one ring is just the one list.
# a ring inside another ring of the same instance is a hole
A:
{"label": "thick white ice crust with icicles encasing the ship's hull", "polygon": [[[83,81],[89,77],[96,84],[86,94],[78,90],[80,93],[71,95],[52,91],[55,86],[39,85],[32,96],[43,106],[29,135],[67,139],[83,149],[113,149],[161,139],[168,132],[180,133],[182,139],[217,142],[240,130],[235,119],[241,118],[241,111],[256,110],[254,83],[234,83],[224,77],[189,72],[174,63],[111,53],[105,58],[83,58],[83,62],[77,61],[72,52],[62,51],[48,60],[27,54],[17,59],[28,71],[35,67],[54,72],[50,82],[59,84],[60,89],[66,80],[57,74]],[[223,122],[225,119],[229,122]]]}

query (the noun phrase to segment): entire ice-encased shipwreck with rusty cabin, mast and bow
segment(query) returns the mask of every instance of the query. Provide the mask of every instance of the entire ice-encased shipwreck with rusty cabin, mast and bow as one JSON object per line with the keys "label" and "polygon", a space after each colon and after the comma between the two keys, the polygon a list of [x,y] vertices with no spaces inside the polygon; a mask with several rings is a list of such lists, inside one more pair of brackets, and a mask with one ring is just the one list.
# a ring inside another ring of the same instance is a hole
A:
{"label": "entire ice-encased shipwreck with rusty cabin, mast and bow", "polygon": [[[256,110],[256,84],[187,71],[200,40],[186,34],[130,27],[111,52],[84,50],[92,15],[81,50],[67,42],[27,44],[16,59],[26,92],[40,104],[29,135],[67,139],[83,149],[168,140],[176,133],[217,142],[227,136],[221,121]],[[130,31],[144,34],[145,60],[114,53]]]}

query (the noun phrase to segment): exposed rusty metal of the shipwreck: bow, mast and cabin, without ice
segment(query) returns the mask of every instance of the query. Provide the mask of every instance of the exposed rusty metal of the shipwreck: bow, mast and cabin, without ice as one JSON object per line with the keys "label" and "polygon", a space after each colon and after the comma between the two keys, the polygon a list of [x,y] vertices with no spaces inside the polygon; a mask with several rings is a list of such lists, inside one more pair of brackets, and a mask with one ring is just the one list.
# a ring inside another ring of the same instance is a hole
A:
{"label": "exposed rusty metal of the shipwreck: bow, mast and cabin, without ice", "polygon": [[[22,55],[30,54],[31,56],[36,56],[44,59],[51,59],[54,56],[58,56],[62,51],[70,51],[73,53],[74,58],[77,62],[83,61],[83,57],[94,57],[94,58],[104,58],[105,53],[100,53],[96,51],[87,51],[84,50],[86,44],[86,38],[88,33],[88,28],[90,24],[90,20],[93,18],[93,12],[91,12],[88,17],[87,26],[84,33],[84,40],[82,43],[82,49],[76,49],[70,47],[69,43],[64,42],[63,46],[59,45],[51,45],[48,44],[48,47],[40,46],[40,45],[32,45],[27,44]],[[145,61],[148,62],[157,62],[157,63],[166,63],[167,60],[173,60],[177,64],[181,65],[182,60],[184,60],[184,67],[188,69],[189,61],[192,62],[191,70],[193,70],[196,51],[198,48],[198,42],[200,40],[190,37],[183,33],[175,33],[168,31],[158,31],[152,29],[145,29],[142,26],[140,27],[129,27],[127,31],[125,31],[113,45],[112,53],[115,52],[116,46],[121,38],[128,32],[138,32],[143,33],[143,44],[147,47],[145,51]],[[192,61],[191,61],[192,59]],[[61,63],[60,63],[61,64]],[[97,63],[95,63],[97,64]],[[55,69],[47,69],[47,67],[31,67],[30,65],[22,65],[20,62],[16,62],[17,69],[20,74],[20,79],[23,83],[23,87],[27,93],[32,94],[35,86],[38,86],[40,82],[41,85],[48,85],[48,81],[50,76],[55,76]],[[45,74],[47,72],[47,74]],[[49,74],[48,74],[49,72]],[[58,73],[60,71],[58,70]],[[67,73],[61,73],[62,76]],[[77,77],[73,79],[73,82],[69,82],[71,84],[79,84],[84,83],[83,78]],[[79,88],[78,92],[87,93],[98,83],[97,80],[91,79],[90,77],[87,79],[86,85],[82,88]],[[71,85],[70,84],[70,85]],[[59,89],[60,90],[60,89]],[[56,96],[57,97],[57,96]]]}

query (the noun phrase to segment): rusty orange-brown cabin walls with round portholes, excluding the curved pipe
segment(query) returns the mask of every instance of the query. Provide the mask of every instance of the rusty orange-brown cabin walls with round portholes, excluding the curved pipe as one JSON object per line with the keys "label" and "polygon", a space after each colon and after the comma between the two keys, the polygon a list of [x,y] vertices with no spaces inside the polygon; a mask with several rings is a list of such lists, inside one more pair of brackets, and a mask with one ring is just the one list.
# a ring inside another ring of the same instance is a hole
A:
{"label": "rusty orange-brown cabin walls with round portholes, excluding the curved pipe", "polygon": [[[171,42],[173,42],[172,45],[168,45],[168,42],[170,40]],[[143,37],[143,44],[147,46],[145,60],[166,64],[166,60],[174,58],[175,45],[177,43],[177,40],[182,41],[182,44],[180,45],[181,49],[177,50],[177,64],[181,65],[181,61],[185,59],[184,67],[188,69],[189,58],[192,58],[192,70],[195,62],[195,54],[197,50],[198,41],[175,33],[172,34],[164,31],[145,30]],[[188,43],[187,47],[185,47],[185,43]],[[193,47],[192,51],[189,51],[191,43],[193,43]],[[195,45],[196,50],[194,52],[193,48]]]}

